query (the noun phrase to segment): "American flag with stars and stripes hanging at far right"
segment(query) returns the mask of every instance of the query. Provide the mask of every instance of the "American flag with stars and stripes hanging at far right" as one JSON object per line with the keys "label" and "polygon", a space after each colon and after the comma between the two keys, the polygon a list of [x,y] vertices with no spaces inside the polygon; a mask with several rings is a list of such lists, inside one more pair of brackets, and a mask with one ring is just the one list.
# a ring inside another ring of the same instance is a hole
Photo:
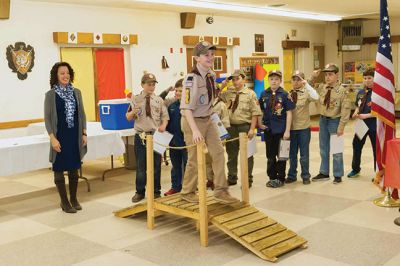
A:
{"label": "American flag with stars and stripes hanging at far right", "polygon": [[376,70],[372,89],[372,114],[377,117],[375,183],[384,188],[386,142],[395,138],[394,66],[387,0],[381,0],[380,37],[376,54]]}

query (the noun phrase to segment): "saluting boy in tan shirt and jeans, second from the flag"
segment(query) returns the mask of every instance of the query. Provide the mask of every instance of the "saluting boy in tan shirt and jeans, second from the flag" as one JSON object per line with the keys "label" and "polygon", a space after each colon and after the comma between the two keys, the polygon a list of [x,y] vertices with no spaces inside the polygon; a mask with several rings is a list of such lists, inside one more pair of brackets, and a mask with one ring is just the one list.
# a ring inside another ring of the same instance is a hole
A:
{"label": "saluting boy in tan shirt and jeans, second from the flag", "polygon": [[[320,74],[320,70],[313,73],[312,80]],[[319,174],[312,181],[329,180],[329,151],[332,134],[343,135],[344,127],[349,121],[351,103],[348,91],[339,81],[339,68],[328,64],[322,70],[325,73],[325,84],[320,84],[316,89],[319,94],[320,120],[319,120],[319,149],[321,166]],[[333,155],[334,184],[342,182],[343,153]]]}

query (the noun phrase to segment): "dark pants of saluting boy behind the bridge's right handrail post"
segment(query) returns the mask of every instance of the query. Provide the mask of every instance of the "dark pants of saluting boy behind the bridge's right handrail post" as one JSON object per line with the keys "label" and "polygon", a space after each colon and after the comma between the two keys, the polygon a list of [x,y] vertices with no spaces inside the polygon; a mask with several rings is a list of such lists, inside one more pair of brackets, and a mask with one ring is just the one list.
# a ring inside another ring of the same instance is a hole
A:
{"label": "dark pants of saluting boy behind the bridge's right handrail post", "polygon": [[[239,133],[247,133],[250,130],[250,124],[244,123],[239,125],[231,124],[231,127],[228,128],[228,133],[231,138],[239,137]],[[255,136],[254,136],[255,138]],[[226,143],[226,152],[228,153],[228,180],[232,183],[237,182],[237,165],[238,165],[238,153],[239,153],[239,140],[231,141]],[[254,166],[254,157],[251,156],[248,159],[248,175],[249,182],[253,183],[253,166]]]}

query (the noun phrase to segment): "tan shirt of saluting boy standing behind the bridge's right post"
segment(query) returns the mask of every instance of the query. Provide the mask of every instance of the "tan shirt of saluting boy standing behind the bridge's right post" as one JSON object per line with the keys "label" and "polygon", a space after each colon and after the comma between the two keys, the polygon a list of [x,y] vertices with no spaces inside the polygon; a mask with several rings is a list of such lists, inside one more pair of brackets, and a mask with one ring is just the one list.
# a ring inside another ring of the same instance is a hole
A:
{"label": "tan shirt of saluting boy standing behind the bridge's right post", "polygon": [[[232,112],[235,103],[236,92],[239,93],[239,103],[235,112]],[[226,91],[221,92],[220,97],[226,103],[229,111],[229,120],[232,125],[251,123],[253,116],[262,116],[262,112],[258,103],[255,92],[246,86],[240,90],[235,87],[229,87]]]}

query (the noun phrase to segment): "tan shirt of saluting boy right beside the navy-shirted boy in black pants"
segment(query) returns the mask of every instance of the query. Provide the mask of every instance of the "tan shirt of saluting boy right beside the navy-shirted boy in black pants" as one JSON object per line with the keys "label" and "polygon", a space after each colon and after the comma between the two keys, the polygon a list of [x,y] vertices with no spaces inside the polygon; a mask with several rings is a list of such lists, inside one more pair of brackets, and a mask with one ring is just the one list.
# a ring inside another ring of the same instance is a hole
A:
{"label": "tan shirt of saluting boy right beside the navy-shirted boy in black pants", "polygon": [[[306,88],[309,86],[309,88]],[[314,94],[310,93],[313,90]],[[310,123],[310,102],[318,100],[318,94],[308,83],[295,90],[297,92],[296,108],[292,112],[292,127],[291,130],[301,130],[309,128]],[[290,92],[291,93],[291,92]],[[290,97],[291,94],[289,94]],[[314,97],[313,97],[314,96]]]}

